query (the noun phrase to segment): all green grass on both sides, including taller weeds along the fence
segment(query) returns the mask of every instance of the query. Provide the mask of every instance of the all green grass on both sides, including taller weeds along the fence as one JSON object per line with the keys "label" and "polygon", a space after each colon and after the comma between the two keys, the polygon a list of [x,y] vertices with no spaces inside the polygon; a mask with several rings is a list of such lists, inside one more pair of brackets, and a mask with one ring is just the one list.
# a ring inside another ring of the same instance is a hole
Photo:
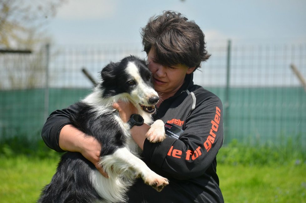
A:
{"label": "all green grass on both sides, including taller weeds along the fence", "polygon": [[[298,148],[250,147],[233,141],[217,156],[225,202],[306,203],[305,156]],[[0,203],[36,202],[55,173],[58,161],[59,154],[41,143],[29,150],[24,142],[12,145],[2,142]]]}

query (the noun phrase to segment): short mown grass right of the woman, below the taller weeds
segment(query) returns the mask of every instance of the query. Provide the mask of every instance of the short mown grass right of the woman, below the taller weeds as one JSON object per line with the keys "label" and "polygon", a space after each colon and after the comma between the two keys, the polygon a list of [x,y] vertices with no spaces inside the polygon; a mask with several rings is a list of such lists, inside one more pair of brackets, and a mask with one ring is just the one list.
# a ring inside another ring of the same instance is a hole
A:
{"label": "short mown grass right of the woman, below the taller weeds", "polygon": [[218,165],[225,202],[306,202],[306,165]]}

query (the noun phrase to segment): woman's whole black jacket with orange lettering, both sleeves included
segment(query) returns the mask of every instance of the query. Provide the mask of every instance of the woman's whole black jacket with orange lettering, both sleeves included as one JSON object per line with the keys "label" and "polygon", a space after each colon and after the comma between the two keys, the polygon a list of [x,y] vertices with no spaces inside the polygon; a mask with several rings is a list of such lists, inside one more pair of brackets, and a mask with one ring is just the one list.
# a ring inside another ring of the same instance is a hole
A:
{"label": "woman's whole black jacket with orange lettering, both sleeves included", "polygon": [[[143,160],[170,184],[156,192],[138,180],[128,193],[129,202],[224,202],[216,169],[216,155],[223,143],[222,102],[212,92],[194,85],[192,79],[193,74],[187,75],[180,90],[163,101],[154,115],[155,120],[166,123],[171,137],[161,143],[144,143]],[[63,151],[58,145],[59,132],[70,123],[69,114],[73,112],[72,105],[48,117],[42,130],[48,147]]]}

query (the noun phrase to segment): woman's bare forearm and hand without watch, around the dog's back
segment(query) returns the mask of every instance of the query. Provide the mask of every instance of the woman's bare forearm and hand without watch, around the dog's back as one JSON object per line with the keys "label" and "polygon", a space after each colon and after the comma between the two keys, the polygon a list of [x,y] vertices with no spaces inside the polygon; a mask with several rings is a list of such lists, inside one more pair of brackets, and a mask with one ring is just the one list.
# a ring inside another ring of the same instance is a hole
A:
{"label": "woman's bare forearm and hand without watch, around the dog's back", "polygon": [[102,146],[96,138],[86,136],[73,125],[65,125],[59,134],[59,147],[65,151],[81,153],[104,177],[108,178],[108,174],[99,165]]}

